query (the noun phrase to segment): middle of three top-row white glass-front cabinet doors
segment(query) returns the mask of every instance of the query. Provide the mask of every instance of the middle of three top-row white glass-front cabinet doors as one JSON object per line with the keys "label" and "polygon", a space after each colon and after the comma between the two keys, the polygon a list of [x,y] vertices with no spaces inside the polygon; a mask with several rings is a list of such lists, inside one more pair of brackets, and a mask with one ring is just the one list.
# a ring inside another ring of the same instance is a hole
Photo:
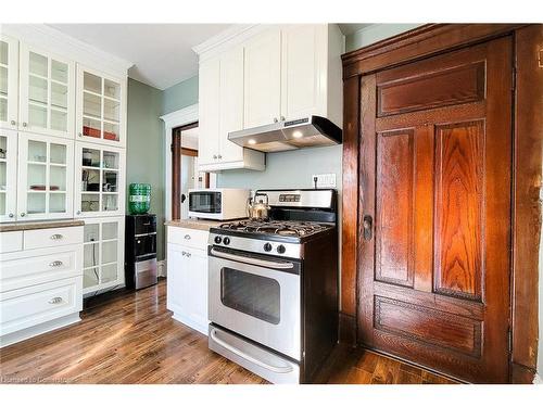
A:
{"label": "middle of three top-row white glass-front cabinet doors", "polygon": [[21,44],[21,124],[25,131],[74,138],[75,64]]}

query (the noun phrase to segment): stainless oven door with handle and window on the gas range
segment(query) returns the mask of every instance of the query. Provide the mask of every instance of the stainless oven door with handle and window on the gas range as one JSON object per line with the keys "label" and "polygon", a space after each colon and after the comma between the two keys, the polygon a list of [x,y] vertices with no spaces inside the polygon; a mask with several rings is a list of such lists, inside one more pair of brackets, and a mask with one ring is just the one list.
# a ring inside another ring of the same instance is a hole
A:
{"label": "stainless oven door with handle and window on the gas range", "polygon": [[299,262],[210,250],[210,320],[301,359]]}

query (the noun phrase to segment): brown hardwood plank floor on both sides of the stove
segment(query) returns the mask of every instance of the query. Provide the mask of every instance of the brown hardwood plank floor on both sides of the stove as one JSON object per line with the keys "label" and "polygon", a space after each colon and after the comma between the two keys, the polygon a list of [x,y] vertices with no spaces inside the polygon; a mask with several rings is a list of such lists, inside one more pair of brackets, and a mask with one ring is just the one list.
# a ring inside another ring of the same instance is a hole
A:
{"label": "brown hardwood plank floor on both sides of the stove", "polygon": [[[266,383],[172,319],[166,283],[91,300],[83,321],[0,349],[0,383]],[[451,383],[363,349],[338,348],[323,383]]]}

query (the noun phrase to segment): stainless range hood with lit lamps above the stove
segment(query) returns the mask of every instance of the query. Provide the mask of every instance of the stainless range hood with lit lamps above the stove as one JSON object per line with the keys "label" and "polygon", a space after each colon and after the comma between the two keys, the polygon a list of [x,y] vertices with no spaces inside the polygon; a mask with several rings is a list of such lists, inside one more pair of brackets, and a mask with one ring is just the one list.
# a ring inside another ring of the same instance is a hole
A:
{"label": "stainless range hood with lit lamps above the stove", "polygon": [[272,153],[341,144],[341,129],[326,117],[307,116],[228,133],[228,140],[249,149]]}

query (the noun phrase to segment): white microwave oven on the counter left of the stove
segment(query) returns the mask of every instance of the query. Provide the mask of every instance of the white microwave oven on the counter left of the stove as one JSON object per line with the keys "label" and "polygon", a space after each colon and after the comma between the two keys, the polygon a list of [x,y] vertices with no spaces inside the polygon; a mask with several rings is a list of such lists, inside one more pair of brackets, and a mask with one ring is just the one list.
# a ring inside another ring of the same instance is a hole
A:
{"label": "white microwave oven on the counter left of the stove", "polygon": [[215,220],[247,218],[250,195],[248,189],[189,189],[189,217]]}

